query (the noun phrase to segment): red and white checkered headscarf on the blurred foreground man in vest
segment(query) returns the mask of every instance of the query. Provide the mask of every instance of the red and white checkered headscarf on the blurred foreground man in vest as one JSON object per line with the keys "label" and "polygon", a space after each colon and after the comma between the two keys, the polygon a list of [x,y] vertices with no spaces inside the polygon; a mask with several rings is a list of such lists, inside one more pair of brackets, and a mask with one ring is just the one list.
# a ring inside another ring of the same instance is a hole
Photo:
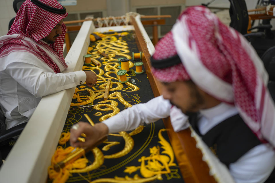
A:
{"label": "red and white checkered headscarf on the blurred foreground man in vest", "polygon": [[275,108],[268,75],[256,51],[205,7],[190,7],[156,45],[161,60],[178,54],[182,64],[153,69],[160,81],[192,79],[205,92],[235,104],[245,123],[275,147]]}

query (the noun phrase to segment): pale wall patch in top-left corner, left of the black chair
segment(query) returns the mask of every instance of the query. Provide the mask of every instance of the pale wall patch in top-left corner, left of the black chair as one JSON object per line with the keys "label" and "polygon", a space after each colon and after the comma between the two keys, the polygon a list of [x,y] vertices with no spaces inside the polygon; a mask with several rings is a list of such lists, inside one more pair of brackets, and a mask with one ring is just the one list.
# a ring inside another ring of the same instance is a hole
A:
{"label": "pale wall patch in top-left corner, left of the black chair", "polygon": [[13,0],[0,0],[0,36],[8,33],[9,21],[16,15],[12,3]]}

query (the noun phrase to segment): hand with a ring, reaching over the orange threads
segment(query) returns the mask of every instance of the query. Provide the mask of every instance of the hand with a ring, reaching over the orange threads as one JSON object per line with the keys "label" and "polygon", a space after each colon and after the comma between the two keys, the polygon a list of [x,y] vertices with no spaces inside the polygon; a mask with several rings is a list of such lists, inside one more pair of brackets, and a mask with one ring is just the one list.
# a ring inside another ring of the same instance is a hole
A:
{"label": "hand with a ring, reaching over the orange threads", "polygon": [[[70,145],[73,147],[92,147],[103,136],[108,134],[108,127],[104,123],[97,123],[95,126],[91,126],[85,122],[79,122],[77,129],[71,128]],[[77,141],[81,133],[84,133],[87,137],[85,142]]]}

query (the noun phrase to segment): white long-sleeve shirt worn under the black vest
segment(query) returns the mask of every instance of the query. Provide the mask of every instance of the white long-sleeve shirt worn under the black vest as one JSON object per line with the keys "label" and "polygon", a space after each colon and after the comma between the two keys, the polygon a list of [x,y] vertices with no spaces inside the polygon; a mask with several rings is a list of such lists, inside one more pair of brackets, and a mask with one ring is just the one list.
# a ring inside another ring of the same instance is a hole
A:
{"label": "white long-sleeve shirt worn under the black vest", "polygon": [[[188,119],[184,114],[171,110],[169,100],[162,96],[153,98],[147,103],[137,104],[123,110],[119,114],[105,120],[109,133],[128,131],[144,123],[149,124],[171,115],[171,124],[175,131],[188,126]],[[175,108],[175,107],[173,107]],[[198,121],[201,134],[206,134],[211,128],[238,113],[235,106],[221,103],[213,108],[201,110],[202,118]],[[119,125],[118,125],[119,124]],[[275,152],[269,144],[260,144],[245,153],[239,160],[229,165],[229,172],[237,183],[262,183],[275,166]]]}

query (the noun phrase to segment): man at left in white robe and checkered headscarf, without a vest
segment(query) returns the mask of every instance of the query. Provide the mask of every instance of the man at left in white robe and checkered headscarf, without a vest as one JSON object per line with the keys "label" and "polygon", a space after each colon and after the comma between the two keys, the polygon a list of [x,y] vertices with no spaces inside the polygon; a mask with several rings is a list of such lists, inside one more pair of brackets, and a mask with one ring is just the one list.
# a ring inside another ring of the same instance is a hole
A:
{"label": "man at left in white robe and checkered headscarf, without a vest", "polygon": [[61,73],[68,67],[63,57],[67,15],[56,0],[26,0],[0,37],[0,107],[7,129],[28,122],[41,97],[81,81],[95,84],[92,72]]}

